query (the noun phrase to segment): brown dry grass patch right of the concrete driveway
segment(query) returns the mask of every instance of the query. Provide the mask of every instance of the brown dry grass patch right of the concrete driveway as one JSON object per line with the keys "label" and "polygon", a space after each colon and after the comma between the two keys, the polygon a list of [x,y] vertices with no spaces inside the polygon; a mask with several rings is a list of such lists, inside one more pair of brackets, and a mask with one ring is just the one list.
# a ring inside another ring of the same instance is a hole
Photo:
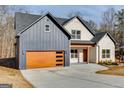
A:
{"label": "brown dry grass patch right of the concrete driveway", "polygon": [[113,66],[107,70],[97,71],[96,73],[124,76],[124,66]]}

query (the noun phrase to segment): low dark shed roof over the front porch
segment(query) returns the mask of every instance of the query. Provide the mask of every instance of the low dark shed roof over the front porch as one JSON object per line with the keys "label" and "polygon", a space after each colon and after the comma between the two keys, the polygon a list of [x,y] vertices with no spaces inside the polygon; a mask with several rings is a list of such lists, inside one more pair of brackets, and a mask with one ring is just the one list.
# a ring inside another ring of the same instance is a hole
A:
{"label": "low dark shed roof over the front porch", "polygon": [[71,44],[78,44],[78,45],[95,45],[95,42],[88,41],[88,40],[71,40]]}

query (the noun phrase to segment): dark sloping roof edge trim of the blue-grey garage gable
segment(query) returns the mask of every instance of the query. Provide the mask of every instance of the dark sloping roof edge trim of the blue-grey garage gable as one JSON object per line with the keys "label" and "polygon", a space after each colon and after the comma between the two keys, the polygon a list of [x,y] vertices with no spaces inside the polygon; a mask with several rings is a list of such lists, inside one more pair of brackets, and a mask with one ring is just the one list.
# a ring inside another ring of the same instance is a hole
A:
{"label": "dark sloping roof edge trim of the blue-grey garage gable", "polygon": [[62,32],[67,35],[67,37],[70,39],[71,35],[56,21],[56,19],[52,16],[52,14],[47,13],[44,16],[40,16],[37,20],[35,20],[33,23],[31,23],[30,25],[28,25],[26,28],[22,29],[17,35],[22,34],[24,31],[26,31],[28,28],[30,28],[32,25],[36,24],[39,20],[41,20],[42,18],[44,18],[45,16],[49,17],[52,22],[54,22],[54,24],[57,25],[57,27],[59,27]]}

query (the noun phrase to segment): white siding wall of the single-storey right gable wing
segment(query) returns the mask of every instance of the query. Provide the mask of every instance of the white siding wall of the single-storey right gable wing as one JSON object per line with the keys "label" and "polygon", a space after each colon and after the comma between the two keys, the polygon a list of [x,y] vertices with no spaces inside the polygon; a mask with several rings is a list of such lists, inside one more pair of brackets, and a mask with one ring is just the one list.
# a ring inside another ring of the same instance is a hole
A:
{"label": "white siding wall of the single-storey right gable wing", "polygon": [[[110,50],[110,58],[102,58],[102,49]],[[90,48],[89,61],[98,63],[99,61],[112,60],[115,62],[115,44],[106,34],[95,47]]]}

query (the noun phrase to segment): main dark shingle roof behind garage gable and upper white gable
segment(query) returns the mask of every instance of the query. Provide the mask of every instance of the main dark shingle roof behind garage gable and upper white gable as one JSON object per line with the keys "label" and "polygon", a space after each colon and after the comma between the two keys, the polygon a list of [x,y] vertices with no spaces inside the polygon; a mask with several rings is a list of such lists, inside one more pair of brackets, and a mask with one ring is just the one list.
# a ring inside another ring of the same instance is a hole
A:
{"label": "main dark shingle roof behind garage gable and upper white gable", "polygon": [[[27,13],[20,13],[16,12],[15,13],[15,25],[14,28],[16,29],[16,34],[22,31],[24,28],[32,24],[34,21],[42,17],[42,15],[34,15],[34,14],[27,14]],[[54,19],[60,24],[60,25],[65,25],[67,24],[70,20],[73,18],[77,17],[79,21],[94,35],[95,31],[90,27],[89,23],[80,18],[79,16],[74,16],[70,19],[67,18],[59,18],[53,16]]]}

